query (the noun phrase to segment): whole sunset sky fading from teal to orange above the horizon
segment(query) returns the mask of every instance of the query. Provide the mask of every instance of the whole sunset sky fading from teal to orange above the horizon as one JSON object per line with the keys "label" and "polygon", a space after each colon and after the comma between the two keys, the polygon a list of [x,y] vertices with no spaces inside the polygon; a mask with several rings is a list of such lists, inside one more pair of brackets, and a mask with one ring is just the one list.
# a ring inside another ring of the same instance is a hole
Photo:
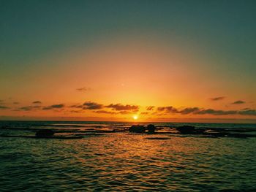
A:
{"label": "whole sunset sky fading from teal to orange above the horizon", "polygon": [[0,0],[0,120],[255,123],[255,6]]}

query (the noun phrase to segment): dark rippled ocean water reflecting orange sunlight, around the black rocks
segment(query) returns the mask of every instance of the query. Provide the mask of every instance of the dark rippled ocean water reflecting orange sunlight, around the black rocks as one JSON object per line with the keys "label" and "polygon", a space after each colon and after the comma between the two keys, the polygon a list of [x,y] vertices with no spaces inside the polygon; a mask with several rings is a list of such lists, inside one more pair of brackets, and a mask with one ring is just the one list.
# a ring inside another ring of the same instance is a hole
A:
{"label": "dark rippled ocean water reflecting orange sunlight, around the black rocks", "polygon": [[[173,131],[186,124],[256,134],[256,124],[154,123],[152,135],[130,134],[131,124],[0,121],[0,135],[15,136],[0,137],[0,191],[256,191],[255,137]],[[41,128],[71,139],[34,138]]]}

